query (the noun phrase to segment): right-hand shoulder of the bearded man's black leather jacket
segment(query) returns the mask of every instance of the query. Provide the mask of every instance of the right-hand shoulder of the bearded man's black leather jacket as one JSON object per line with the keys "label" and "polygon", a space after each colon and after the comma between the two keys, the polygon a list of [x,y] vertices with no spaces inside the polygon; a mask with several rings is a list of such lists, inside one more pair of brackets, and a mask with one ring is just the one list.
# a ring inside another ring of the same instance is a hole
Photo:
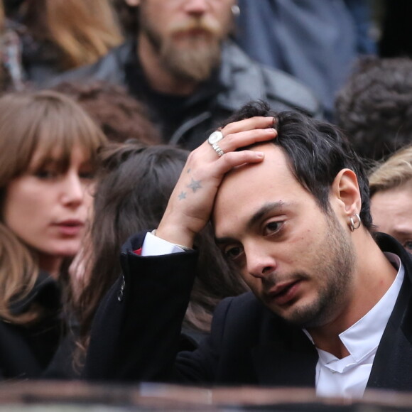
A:
{"label": "right-hand shoulder of the bearded man's black leather jacket", "polygon": [[237,99],[265,99],[277,111],[322,116],[320,101],[310,87],[286,72],[252,60],[232,41],[224,43],[222,49],[221,77],[228,87],[237,89]]}

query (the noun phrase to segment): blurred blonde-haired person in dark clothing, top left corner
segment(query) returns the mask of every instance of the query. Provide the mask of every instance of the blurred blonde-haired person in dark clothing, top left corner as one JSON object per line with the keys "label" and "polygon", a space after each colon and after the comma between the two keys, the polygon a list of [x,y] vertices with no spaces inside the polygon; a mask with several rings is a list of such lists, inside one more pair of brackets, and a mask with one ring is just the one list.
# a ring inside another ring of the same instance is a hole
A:
{"label": "blurred blonde-haired person in dark clothing, top left corner", "polygon": [[[3,0],[2,53],[14,88],[45,85],[93,63],[122,41],[111,0]],[[19,78],[22,77],[22,78]]]}

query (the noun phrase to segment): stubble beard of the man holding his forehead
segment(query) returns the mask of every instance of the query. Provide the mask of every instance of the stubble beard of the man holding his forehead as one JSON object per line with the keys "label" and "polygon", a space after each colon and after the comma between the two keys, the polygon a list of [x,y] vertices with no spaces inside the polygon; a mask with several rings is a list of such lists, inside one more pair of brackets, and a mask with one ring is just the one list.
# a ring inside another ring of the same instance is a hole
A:
{"label": "stubble beard of the man holding his forehead", "polygon": [[350,293],[356,259],[354,246],[335,214],[329,211],[327,216],[328,232],[319,249],[314,251],[313,273],[295,273],[291,276],[302,281],[323,279],[318,296],[307,305],[296,302],[296,308],[292,307],[288,314],[279,313],[287,322],[299,327],[319,327],[330,322],[344,308]]}

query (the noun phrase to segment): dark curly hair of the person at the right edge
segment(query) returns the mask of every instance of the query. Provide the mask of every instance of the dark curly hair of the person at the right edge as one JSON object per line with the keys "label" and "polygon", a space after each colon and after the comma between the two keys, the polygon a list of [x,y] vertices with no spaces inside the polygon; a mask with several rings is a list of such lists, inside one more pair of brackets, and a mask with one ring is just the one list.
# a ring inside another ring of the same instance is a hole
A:
{"label": "dark curly hair of the person at the right edge", "polygon": [[412,142],[412,60],[364,58],[338,92],[336,122],[374,161]]}

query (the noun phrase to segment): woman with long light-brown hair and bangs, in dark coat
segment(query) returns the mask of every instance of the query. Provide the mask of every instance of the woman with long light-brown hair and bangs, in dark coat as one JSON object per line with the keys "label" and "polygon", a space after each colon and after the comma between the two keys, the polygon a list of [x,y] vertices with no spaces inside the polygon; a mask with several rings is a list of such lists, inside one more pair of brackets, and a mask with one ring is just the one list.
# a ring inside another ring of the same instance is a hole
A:
{"label": "woman with long light-brown hair and bangs, in dark coat", "polygon": [[45,376],[50,368],[50,376],[69,373],[53,361],[67,326],[62,276],[80,249],[97,151],[105,141],[92,119],[62,94],[0,98],[2,379]]}

